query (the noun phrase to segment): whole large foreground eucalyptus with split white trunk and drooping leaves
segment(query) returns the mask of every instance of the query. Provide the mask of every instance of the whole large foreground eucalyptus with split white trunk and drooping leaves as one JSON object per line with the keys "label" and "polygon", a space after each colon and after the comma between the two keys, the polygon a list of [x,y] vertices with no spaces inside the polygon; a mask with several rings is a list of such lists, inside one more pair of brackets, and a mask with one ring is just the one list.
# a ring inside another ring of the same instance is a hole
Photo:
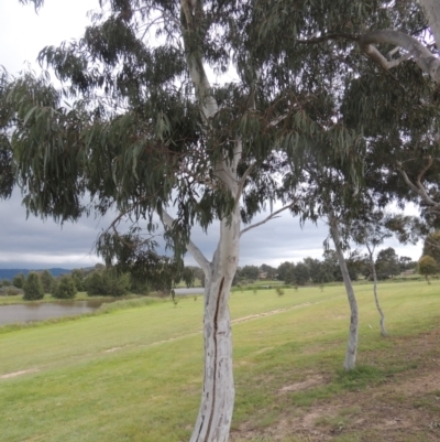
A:
{"label": "whole large foreground eucalyptus with split white trunk and drooping leaves", "polygon": [[[228,301],[240,236],[284,208],[243,229],[241,219],[250,224],[273,201],[279,152],[306,150],[324,97],[314,80],[319,68],[307,51],[287,69],[267,51],[263,1],[101,3],[82,39],[38,56],[62,89],[32,74],[3,82],[6,162],[31,214],[64,223],[117,212],[97,249],[121,271],[178,278],[183,255],[194,256],[205,273],[205,376],[190,440],[223,442],[234,401]],[[209,69],[231,65],[235,82],[212,83]],[[297,73],[311,85],[299,87]],[[156,252],[155,216],[174,259]],[[191,227],[215,220],[219,241],[208,259]]]}

